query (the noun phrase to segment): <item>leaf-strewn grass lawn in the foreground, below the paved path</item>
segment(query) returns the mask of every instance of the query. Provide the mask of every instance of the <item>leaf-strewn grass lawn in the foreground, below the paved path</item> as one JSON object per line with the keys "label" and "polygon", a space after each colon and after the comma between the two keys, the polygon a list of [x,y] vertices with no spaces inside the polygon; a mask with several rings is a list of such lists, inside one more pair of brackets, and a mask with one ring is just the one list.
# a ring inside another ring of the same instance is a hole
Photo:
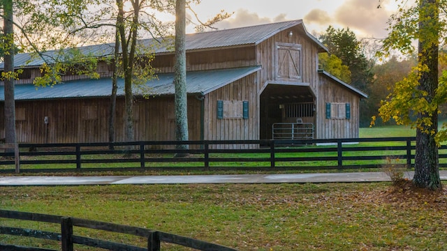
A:
{"label": "leaf-strewn grass lawn in the foreground, below the paved path", "polygon": [[[396,191],[390,183],[31,186],[1,187],[0,195],[0,207],[7,210],[146,227],[238,250],[444,250],[447,240],[446,190]],[[17,222],[0,219],[0,225]],[[75,234],[95,235],[82,231]],[[101,238],[145,245],[107,232]],[[162,250],[184,249],[162,244]]]}

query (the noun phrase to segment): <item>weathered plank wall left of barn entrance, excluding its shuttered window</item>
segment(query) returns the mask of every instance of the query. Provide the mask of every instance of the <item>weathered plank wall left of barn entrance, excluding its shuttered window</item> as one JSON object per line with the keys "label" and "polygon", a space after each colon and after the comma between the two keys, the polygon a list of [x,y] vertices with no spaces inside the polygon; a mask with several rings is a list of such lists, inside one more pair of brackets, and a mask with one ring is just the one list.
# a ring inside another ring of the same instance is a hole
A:
{"label": "weathered plank wall left of barn entrance, excluding its shuttered window", "polygon": [[[258,139],[258,107],[256,74],[239,79],[205,96],[205,139],[232,140]],[[249,119],[217,119],[217,100],[249,102]],[[217,148],[240,148],[242,146],[216,146]],[[245,148],[255,146],[245,146]],[[257,146],[256,146],[257,147]]]}

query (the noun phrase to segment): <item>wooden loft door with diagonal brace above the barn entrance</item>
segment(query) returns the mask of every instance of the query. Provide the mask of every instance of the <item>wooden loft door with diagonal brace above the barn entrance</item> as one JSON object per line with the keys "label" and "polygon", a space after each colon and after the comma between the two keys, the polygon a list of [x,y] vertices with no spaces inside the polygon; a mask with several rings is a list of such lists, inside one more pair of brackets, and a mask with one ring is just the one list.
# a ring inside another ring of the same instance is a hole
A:
{"label": "wooden loft door with diagonal brace above the barn entrance", "polygon": [[283,81],[301,81],[301,45],[277,43],[276,77]]}

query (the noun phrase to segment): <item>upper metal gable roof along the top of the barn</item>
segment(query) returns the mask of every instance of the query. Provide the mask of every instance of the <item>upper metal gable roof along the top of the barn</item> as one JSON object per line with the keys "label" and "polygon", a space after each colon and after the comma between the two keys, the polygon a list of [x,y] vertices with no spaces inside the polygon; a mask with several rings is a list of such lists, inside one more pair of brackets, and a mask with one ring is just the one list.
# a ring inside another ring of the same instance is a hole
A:
{"label": "upper metal gable roof along the top of the barn", "polygon": [[[186,51],[195,50],[217,50],[225,47],[242,47],[258,45],[264,40],[274,36],[274,34],[295,27],[304,36],[307,36],[319,48],[319,52],[328,52],[318,39],[307,32],[302,20],[292,20],[286,22],[276,22],[270,24],[259,24],[255,26],[246,26],[235,29],[222,29],[217,31],[207,31],[202,33],[186,34],[185,47]],[[166,43],[159,43],[158,40],[164,40]],[[146,47],[152,48],[156,54],[173,53],[173,39],[143,39],[140,43]],[[113,54],[115,43],[106,43],[101,45],[89,45],[78,47],[83,54],[91,54],[92,56],[110,56]],[[48,51],[44,53],[47,60],[57,57],[59,51]],[[44,63],[40,57],[32,56],[29,53],[17,54],[14,56],[15,67],[36,67]],[[3,62],[0,63],[0,69],[3,69]]]}

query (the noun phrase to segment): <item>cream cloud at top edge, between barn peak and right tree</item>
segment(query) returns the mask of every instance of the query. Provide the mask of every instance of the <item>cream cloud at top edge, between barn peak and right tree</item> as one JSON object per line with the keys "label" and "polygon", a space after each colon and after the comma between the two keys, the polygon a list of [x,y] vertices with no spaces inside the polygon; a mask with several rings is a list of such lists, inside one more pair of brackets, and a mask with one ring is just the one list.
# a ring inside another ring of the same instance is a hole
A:
{"label": "cream cloud at top edge, between barn peak and right tree", "polygon": [[347,0],[335,10],[335,22],[358,31],[360,36],[383,38],[388,33],[386,22],[390,13],[385,8],[377,8],[377,6],[379,6],[378,1]]}

